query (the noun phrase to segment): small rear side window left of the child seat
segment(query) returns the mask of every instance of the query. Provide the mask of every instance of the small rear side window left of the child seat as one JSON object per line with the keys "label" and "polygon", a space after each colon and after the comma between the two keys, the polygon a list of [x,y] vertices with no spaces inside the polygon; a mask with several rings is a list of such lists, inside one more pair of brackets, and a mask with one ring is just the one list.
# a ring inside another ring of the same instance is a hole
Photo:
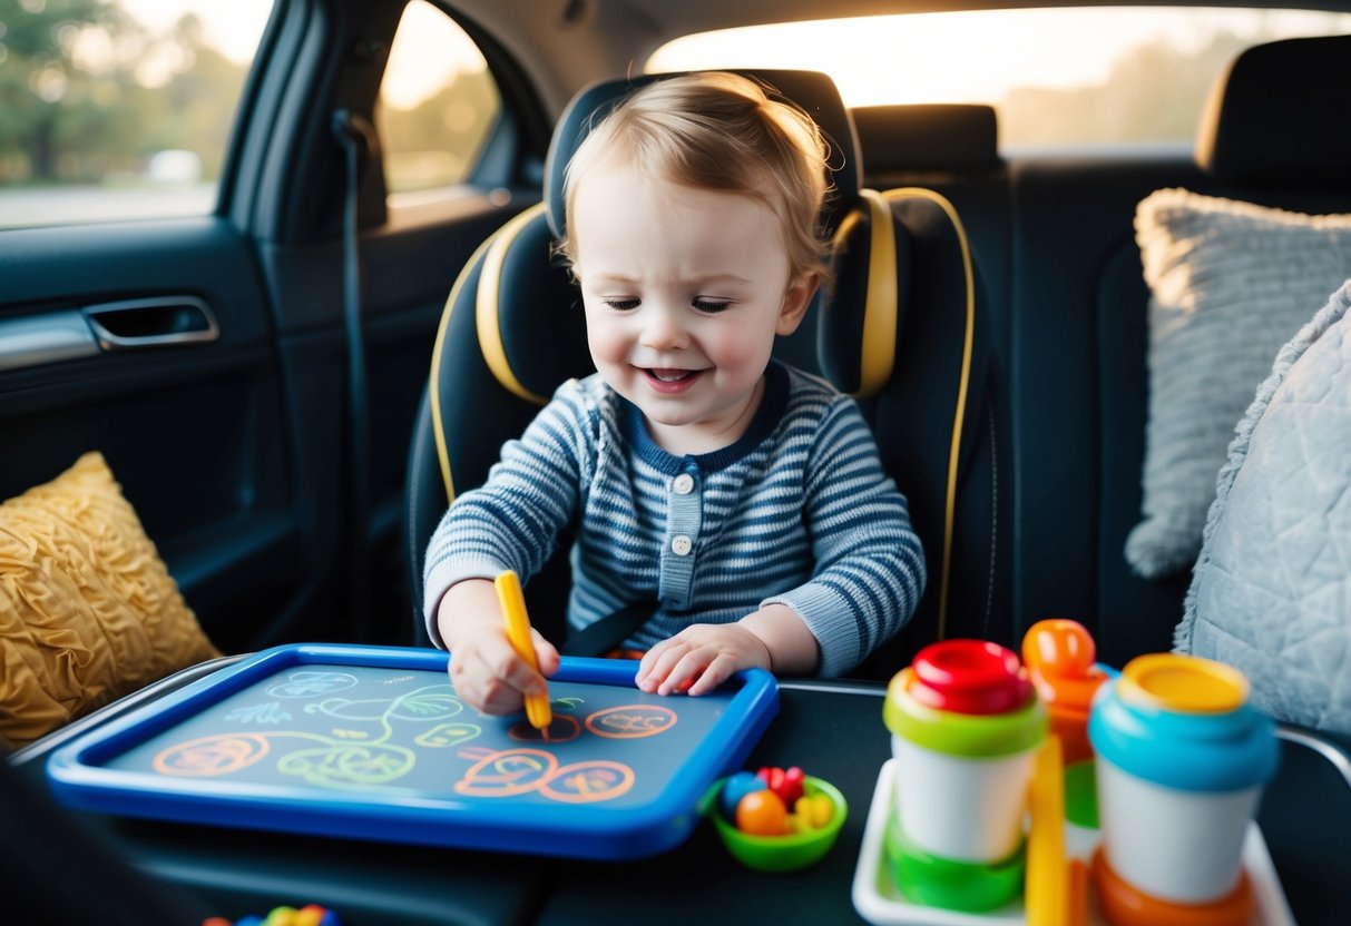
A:
{"label": "small rear side window left of the child seat", "polygon": [[399,22],[376,109],[389,205],[469,180],[500,111],[497,84],[478,46],[444,12],[412,0]]}

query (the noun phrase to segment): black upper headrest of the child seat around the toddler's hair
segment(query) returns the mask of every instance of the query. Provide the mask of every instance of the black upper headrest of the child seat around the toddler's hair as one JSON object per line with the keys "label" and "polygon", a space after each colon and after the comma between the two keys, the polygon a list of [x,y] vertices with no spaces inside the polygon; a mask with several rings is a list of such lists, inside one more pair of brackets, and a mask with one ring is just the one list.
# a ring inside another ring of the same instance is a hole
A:
{"label": "black upper headrest of the child seat around the toddler's hair", "polygon": [[[834,190],[825,201],[823,225],[827,235],[834,234],[840,217],[858,202],[858,188],[862,178],[854,123],[840,100],[835,82],[825,74],[811,70],[736,70],[735,73],[773,88],[780,96],[796,103],[816,120],[830,146],[830,184]],[[671,76],[640,74],[601,81],[584,88],[567,104],[554,128],[554,138],[549,144],[549,158],[544,162],[544,204],[549,209],[549,227],[555,236],[562,238],[563,232],[563,170],[567,167],[573,151],[577,150],[577,146],[600,117],[609,112],[624,94],[654,80]],[[596,116],[593,117],[592,113]]]}

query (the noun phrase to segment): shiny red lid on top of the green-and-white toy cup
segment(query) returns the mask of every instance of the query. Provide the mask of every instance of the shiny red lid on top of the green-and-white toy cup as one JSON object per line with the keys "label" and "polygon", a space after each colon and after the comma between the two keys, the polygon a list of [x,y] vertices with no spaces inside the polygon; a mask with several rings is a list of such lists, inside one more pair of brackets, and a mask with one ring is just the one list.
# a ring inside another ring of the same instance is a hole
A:
{"label": "shiny red lid on top of the green-and-white toy cup", "polygon": [[1002,714],[1032,698],[1017,653],[985,640],[943,640],[924,647],[911,664],[907,688],[915,701],[958,714]]}

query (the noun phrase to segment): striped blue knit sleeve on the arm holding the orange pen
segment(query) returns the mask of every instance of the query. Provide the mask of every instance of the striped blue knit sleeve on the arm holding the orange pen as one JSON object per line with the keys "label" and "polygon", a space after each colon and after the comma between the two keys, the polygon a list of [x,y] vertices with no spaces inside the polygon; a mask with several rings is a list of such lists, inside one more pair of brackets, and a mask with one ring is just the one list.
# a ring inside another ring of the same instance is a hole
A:
{"label": "striped blue knit sleeve on the arm holding the orange pen", "polygon": [[463,579],[492,579],[513,570],[535,575],[573,520],[594,459],[596,408],[584,386],[563,383],[478,489],[457,498],[442,517],[423,562],[423,617],[436,645],[436,609]]}

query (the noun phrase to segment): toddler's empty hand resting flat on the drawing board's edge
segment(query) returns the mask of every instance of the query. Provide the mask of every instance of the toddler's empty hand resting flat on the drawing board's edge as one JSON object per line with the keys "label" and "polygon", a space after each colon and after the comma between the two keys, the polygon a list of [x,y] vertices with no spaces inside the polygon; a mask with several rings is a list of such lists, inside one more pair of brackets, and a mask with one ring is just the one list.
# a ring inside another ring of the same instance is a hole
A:
{"label": "toddler's empty hand resting flat on the drawing board's edge", "polygon": [[769,647],[740,624],[694,624],[643,656],[638,687],[667,695],[701,695],[743,668],[770,668]]}

